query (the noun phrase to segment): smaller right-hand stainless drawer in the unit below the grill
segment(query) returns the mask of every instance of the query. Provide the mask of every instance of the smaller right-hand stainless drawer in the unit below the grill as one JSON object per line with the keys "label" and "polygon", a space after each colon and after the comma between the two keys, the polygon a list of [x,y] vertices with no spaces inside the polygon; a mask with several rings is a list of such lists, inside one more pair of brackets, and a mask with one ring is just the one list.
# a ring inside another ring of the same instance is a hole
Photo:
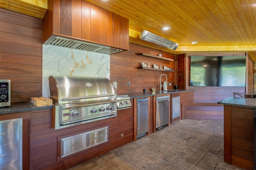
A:
{"label": "smaller right-hand stainless drawer in the unit below the grill", "polygon": [[108,127],[96,129],[89,133],[89,146],[99,145],[108,141]]}

